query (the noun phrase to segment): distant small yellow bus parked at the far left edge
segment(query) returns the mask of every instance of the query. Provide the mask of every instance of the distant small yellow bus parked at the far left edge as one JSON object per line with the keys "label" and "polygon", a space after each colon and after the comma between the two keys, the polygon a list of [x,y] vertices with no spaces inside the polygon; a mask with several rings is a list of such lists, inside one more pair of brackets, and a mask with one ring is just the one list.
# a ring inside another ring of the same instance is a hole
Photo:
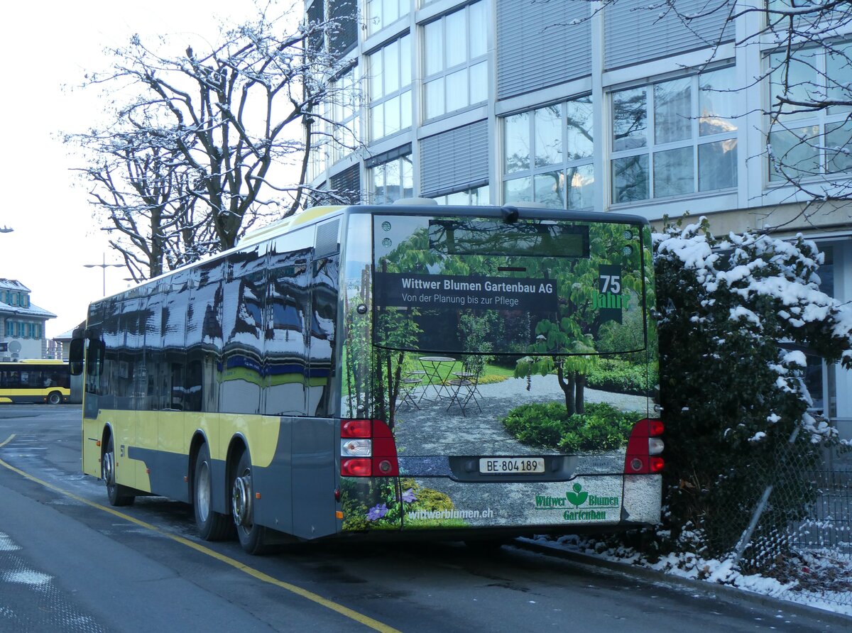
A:
{"label": "distant small yellow bus parked at the far left edge", "polygon": [[71,374],[64,360],[17,360],[0,363],[0,402],[47,402],[71,398]]}

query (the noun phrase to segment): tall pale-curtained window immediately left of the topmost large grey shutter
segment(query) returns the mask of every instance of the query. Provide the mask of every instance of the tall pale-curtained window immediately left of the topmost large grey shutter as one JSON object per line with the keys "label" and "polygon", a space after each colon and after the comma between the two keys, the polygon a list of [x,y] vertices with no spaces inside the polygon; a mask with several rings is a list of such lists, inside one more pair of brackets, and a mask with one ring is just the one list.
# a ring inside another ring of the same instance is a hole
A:
{"label": "tall pale-curtained window immediately left of the topmost large grey shutter", "polygon": [[488,98],[486,3],[423,26],[423,108],[440,117]]}

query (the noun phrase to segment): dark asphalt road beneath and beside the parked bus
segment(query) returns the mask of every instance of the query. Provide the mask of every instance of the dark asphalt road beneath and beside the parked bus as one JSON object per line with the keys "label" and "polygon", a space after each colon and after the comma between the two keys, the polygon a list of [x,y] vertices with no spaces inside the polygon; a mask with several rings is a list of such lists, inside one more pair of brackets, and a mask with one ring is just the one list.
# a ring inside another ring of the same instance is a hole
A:
{"label": "dark asphalt road beneath and beside the parked bus", "polygon": [[78,406],[0,406],[0,631],[835,631],[504,546],[304,545],[245,555],[192,509],[112,509],[80,472]]}

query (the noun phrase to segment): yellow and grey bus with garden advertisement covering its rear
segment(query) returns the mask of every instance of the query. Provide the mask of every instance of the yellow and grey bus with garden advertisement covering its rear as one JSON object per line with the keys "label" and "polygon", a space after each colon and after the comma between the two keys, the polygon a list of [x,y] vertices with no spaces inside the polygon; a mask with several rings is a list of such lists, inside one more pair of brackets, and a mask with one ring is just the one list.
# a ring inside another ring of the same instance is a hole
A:
{"label": "yellow and grey bus with garden advertisement covering its rear", "polygon": [[[653,305],[640,217],[304,210],[90,305],[83,471],[252,554],[653,525]],[[613,364],[632,393],[590,382]]]}

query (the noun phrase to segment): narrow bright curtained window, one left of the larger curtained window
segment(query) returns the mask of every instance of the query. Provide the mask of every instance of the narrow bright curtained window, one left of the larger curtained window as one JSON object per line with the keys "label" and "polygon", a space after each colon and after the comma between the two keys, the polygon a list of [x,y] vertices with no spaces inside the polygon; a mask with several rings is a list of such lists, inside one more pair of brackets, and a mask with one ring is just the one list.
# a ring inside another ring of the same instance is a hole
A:
{"label": "narrow bright curtained window, one left of the larger curtained window", "polygon": [[412,125],[412,37],[406,35],[367,58],[372,141]]}

